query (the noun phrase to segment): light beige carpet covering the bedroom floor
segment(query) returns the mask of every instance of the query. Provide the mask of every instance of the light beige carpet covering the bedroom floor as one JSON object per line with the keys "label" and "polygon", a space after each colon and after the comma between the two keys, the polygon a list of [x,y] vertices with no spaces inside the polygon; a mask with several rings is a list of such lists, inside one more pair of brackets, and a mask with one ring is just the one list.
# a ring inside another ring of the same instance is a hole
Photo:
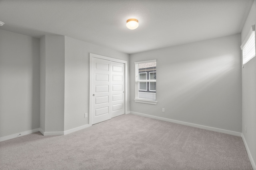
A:
{"label": "light beige carpet covering the bedroom floor", "polygon": [[241,137],[137,115],[0,142],[1,170],[252,170]]}

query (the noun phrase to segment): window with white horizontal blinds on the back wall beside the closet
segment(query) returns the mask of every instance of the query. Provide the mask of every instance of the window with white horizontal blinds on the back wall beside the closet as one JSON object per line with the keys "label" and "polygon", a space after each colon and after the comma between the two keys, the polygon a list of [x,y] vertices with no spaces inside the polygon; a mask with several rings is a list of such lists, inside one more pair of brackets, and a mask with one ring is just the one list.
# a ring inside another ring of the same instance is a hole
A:
{"label": "window with white horizontal blinds on the back wall beside the closet", "polygon": [[156,104],[156,60],[135,62],[135,102]]}

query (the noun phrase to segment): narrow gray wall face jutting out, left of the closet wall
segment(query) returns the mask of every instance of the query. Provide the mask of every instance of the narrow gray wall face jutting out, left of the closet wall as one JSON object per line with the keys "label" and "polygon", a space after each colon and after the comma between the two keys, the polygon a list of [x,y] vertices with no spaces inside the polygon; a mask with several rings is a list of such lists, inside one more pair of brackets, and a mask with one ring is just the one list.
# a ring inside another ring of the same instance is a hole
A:
{"label": "narrow gray wall face jutting out, left of the closet wall", "polygon": [[45,131],[64,131],[64,36],[46,35],[45,42]]}

